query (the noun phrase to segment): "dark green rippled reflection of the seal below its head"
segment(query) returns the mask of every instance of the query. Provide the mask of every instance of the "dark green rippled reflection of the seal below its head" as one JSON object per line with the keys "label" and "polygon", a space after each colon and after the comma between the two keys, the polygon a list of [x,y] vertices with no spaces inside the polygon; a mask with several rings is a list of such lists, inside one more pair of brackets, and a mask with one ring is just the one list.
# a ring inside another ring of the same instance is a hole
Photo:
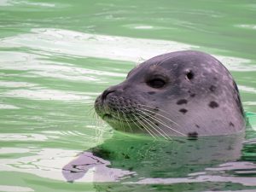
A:
{"label": "dark green rippled reflection of the seal below its head", "polygon": [[70,183],[95,183],[96,191],[251,189],[256,165],[242,160],[243,140],[232,135],[166,141],[115,132],[79,154],[62,174]]}

